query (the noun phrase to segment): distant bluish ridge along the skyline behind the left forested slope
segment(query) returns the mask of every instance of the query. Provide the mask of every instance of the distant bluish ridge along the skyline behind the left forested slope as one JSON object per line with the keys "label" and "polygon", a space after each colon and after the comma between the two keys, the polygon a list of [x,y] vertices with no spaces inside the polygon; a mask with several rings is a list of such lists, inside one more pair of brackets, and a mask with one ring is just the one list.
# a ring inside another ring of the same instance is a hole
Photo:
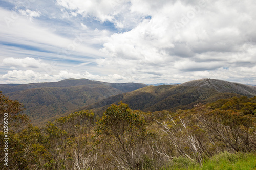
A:
{"label": "distant bluish ridge along the skyline behind the left forested slope", "polygon": [[45,88],[45,87],[72,87],[89,84],[100,84],[116,88],[122,92],[130,92],[136,89],[145,87],[147,85],[141,83],[106,83],[100,81],[94,81],[89,79],[66,79],[58,82],[49,83],[29,83],[29,84],[0,84],[0,91],[3,94],[22,91],[33,88]]}

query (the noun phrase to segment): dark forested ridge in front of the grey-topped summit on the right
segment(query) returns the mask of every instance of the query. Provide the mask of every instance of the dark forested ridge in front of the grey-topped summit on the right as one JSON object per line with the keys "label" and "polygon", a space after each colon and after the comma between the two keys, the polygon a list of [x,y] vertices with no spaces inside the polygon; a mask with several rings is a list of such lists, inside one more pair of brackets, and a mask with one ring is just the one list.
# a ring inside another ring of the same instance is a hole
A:
{"label": "dark forested ridge in front of the grey-topped summit on the right", "polygon": [[161,85],[148,86],[133,92],[119,94],[103,99],[93,105],[85,106],[82,109],[94,109],[97,115],[111,104],[118,104],[119,101],[129,104],[131,109],[147,111],[175,111],[177,109],[191,109],[197,103],[211,103],[218,99],[241,96],[236,90],[233,93],[219,92],[211,87],[182,86],[182,85]]}

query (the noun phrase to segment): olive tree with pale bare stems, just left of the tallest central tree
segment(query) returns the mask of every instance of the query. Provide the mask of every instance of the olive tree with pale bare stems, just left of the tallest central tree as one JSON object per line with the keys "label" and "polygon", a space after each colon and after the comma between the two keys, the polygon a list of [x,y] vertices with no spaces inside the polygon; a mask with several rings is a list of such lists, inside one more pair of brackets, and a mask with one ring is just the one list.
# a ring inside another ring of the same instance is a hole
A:
{"label": "olive tree with pale bare stems, just left of the tallest central tree", "polygon": [[68,116],[58,118],[55,124],[62,131],[67,132],[68,147],[65,154],[69,155],[72,169],[92,168],[96,163],[96,155],[92,151],[92,136],[94,126],[94,113],[79,111]]}

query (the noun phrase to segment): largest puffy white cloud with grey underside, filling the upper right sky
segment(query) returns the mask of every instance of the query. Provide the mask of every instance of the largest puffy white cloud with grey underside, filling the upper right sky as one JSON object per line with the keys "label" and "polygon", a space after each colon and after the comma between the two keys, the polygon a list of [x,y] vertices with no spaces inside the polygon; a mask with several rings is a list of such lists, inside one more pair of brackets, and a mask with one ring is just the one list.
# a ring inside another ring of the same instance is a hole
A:
{"label": "largest puffy white cloud with grey underside, filling the upper right sky", "polygon": [[131,31],[113,34],[102,48],[109,57],[97,60],[99,65],[130,74],[144,68],[148,76],[166,78],[170,72],[185,75],[187,71],[219,75],[224,67],[247,68],[255,63],[255,39],[249,38],[255,37],[251,28],[256,26],[252,1],[161,1],[152,10],[154,6],[156,2],[132,1],[133,11],[141,9],[151,19]]}

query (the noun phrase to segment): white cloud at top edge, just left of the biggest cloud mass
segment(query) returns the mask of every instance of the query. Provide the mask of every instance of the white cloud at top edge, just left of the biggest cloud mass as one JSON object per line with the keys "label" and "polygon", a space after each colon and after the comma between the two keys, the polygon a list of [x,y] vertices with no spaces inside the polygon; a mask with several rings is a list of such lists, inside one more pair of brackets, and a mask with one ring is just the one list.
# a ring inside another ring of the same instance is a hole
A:
{"label": "white cloud at top edge, just left of the biggest cloud mass", "polygon": [[100,22],[109,21],[120,29],[131,29],[143,20],[143,14],[131,11],[129,0],[58,0],[57,4],[70,10],[71,16],[76,13],[83,17],[93,17]]}

